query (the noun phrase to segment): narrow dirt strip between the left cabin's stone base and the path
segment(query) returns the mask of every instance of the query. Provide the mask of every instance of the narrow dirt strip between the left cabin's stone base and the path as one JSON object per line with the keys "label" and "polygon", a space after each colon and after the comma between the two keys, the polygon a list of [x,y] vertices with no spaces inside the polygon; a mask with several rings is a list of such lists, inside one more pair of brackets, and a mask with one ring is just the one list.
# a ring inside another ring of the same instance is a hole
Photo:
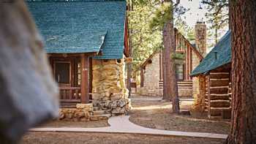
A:
{"label": "narrow dirt strip between the left cabin's stone base and the path", "polygon": [[109,126],[108,120],[100,121],[49,121],[46,124],[38,127],[83,127],[83,128],[92,128],[92,127],[105,127]]}

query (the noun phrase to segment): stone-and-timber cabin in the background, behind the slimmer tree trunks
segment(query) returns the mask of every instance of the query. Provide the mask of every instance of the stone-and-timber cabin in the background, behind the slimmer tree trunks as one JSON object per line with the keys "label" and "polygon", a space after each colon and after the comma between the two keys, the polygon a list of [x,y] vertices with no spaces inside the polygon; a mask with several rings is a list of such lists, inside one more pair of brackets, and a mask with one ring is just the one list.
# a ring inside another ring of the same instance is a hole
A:
{"label": "stone-and-timber cabin in the background, behind the slimmer tree trunks", "polygon": [[[195,25],[196,41],[192,45],[178,29],[176,39],[176,80],[178,96],[192,97],[193,80],[190,76],[203,56],[206,54],[206,24],[197,22]],[[155,52],[143,64],[140,64],[140,88],[138,93],[145,96],[162,96],[163,94],[163,55]]]}

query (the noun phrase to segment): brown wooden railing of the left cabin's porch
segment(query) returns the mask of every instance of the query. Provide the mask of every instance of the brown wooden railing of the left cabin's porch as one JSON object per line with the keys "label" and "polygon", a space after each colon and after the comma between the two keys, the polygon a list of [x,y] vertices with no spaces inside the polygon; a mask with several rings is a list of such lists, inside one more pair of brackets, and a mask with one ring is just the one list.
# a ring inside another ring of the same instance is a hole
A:
{"label": "brown wooden railing of the left cabin's porch", "polygon": [[80,87],[63,87],[59,88],[61,102],[80,102]]}

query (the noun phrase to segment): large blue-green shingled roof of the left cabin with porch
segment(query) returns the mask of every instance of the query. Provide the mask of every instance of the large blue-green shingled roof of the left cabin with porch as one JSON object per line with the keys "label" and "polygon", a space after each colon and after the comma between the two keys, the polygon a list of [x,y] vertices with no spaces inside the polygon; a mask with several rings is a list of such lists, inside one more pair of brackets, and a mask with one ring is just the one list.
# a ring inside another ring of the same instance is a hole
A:
{"label": "large blue-green shingled roof of the left cabin with porch", "polygon": [[27,0],[47,53],[93,53],[123,58],[124,0]]}

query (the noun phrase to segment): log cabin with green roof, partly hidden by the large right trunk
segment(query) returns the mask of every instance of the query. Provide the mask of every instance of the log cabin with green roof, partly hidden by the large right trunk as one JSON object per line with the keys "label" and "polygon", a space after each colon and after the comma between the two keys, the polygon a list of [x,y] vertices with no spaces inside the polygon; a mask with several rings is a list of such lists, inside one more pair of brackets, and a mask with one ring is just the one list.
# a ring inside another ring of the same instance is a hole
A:
{"label": "log cabin with green roof, partly hidden by the large right trunk", "polygon": [[197,103],[208,118],[230,118],[231,115],[231,35],[219,40],[210,53],[192,71],[199,79]]}

